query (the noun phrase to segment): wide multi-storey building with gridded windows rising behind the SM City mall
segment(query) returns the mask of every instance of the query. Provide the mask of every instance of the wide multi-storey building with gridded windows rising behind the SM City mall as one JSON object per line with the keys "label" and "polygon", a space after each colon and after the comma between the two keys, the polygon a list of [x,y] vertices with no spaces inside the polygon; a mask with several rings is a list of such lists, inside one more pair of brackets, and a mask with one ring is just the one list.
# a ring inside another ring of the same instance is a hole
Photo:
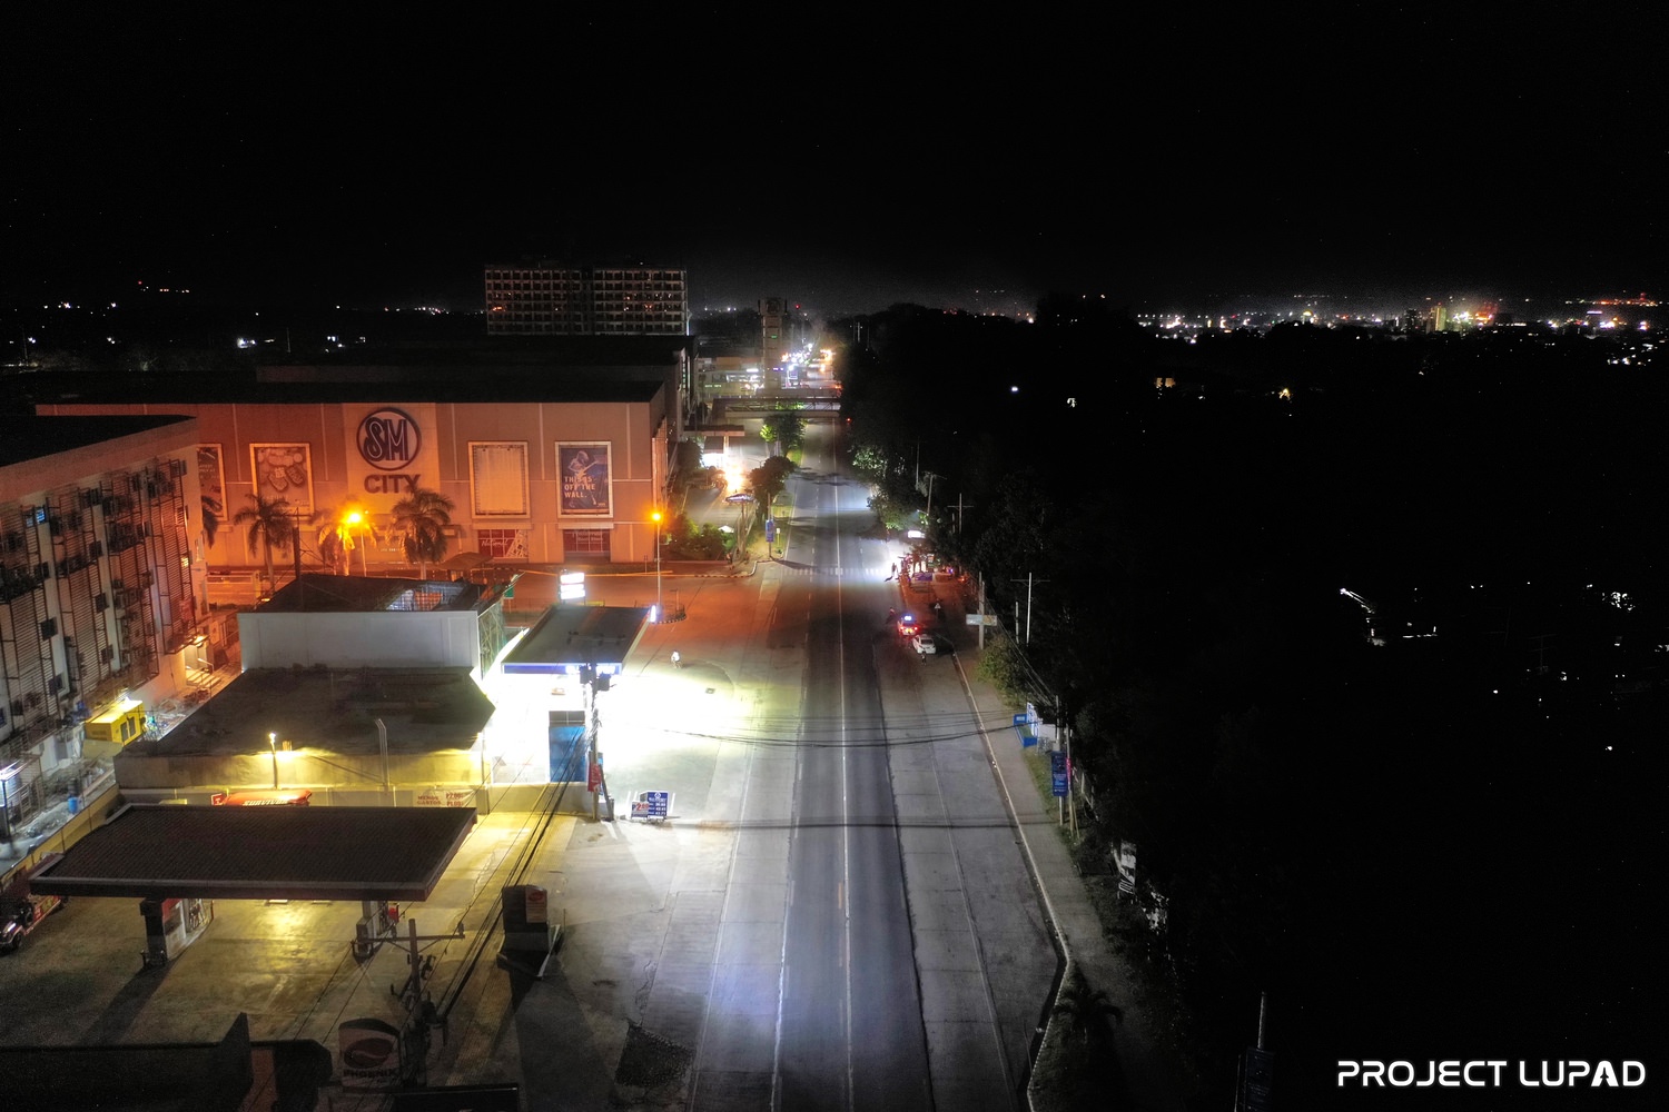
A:
{"label": "wide multi-storey building with gridded windows rising behind the SM City mall", "polygon": [[489,335],[689,335],[689,273],[669,267],[489,265]]}

